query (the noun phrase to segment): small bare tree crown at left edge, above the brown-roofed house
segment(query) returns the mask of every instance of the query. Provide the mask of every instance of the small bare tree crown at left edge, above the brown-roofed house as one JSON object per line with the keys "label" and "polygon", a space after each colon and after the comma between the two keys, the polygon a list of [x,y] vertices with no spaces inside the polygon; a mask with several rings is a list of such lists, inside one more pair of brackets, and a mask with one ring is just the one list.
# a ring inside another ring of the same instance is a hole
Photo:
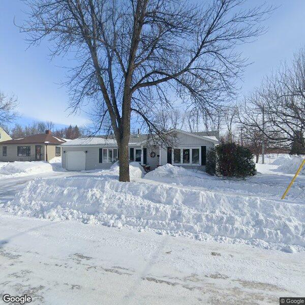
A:
{"label": "small bare tree crown at left edge, above the brown-roofed house", "polygon": [[0,126],[11,123],[17,117],[17,98],[0,92]]}

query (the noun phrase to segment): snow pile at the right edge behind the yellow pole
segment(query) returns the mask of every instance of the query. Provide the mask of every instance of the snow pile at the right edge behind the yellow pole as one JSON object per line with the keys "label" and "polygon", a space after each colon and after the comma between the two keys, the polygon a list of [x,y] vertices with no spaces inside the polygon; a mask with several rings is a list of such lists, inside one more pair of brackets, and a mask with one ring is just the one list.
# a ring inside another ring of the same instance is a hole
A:
{"label": "snow pile at the right edge behind the yellow pole", "polygon": [[[272,162],[272,165],[279,165],[277,171],[281,171],[287,174],[295,174],[304,158],[305,156],[282,154]],[[305,166],[303,166],[300,174],[305,175]]]}

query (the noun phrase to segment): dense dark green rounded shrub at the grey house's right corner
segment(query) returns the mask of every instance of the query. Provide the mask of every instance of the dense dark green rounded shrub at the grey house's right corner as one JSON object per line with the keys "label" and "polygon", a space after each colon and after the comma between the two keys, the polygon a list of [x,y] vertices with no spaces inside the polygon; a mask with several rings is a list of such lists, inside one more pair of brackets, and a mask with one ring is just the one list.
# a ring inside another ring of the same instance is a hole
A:
{"label": "dense dark green rounded shrub at the grey house's right corner", "polygon": [[235,143],[216,146],[216,173],[224,177],[246,177],[256,174],[250,149]]}

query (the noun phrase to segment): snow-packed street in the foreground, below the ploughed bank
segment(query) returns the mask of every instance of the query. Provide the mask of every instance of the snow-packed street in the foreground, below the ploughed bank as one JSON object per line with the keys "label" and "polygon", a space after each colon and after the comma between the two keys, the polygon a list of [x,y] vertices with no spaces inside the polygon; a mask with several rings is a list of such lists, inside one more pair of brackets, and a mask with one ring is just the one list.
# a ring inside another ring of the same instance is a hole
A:
{"label": "snow-packed street in the foreground, below the ploughed bank", "polygon": [[[305,291],[305,253],[8,215],[0,294],[33,304],[277,304]],[[89,300],[89,301],[88,301]]]}

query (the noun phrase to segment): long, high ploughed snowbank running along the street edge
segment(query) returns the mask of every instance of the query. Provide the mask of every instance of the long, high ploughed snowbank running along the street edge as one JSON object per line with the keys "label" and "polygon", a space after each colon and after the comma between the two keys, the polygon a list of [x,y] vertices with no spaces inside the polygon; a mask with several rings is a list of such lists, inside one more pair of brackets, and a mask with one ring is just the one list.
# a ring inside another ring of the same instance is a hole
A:
{"label": "long, high ploughed snowbank running along the street edge", "polygon": [[122,183],[111,175],[37,179],[4,207],[17,215],[305,250],[302,203],[139,181]]}

